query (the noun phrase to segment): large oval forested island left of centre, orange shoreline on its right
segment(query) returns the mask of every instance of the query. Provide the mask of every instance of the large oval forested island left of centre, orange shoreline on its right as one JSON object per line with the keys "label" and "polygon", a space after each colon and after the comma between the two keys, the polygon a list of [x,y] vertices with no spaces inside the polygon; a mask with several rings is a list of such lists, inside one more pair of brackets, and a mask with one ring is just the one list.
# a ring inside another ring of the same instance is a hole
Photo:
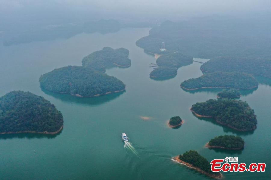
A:
{"label": "large oval forested island left of centre, orange shoreline on its right", "polygon": [[41,88],[78,97],[93,97],[125,90],[119,79],[83,66],[66,66],[39,78]]}

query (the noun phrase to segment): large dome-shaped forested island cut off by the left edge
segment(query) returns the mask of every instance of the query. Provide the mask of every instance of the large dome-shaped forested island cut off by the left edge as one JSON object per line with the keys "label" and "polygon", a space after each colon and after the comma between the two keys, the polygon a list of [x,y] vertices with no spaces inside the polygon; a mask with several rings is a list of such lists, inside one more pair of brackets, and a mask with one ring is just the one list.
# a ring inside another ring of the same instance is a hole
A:
{"label": "large dome-shaped forested island cut off by the left edge", "polygon": [[57,134],[62,128],[61,112],[41,96],[11,91],[0,98],[0,134]]}

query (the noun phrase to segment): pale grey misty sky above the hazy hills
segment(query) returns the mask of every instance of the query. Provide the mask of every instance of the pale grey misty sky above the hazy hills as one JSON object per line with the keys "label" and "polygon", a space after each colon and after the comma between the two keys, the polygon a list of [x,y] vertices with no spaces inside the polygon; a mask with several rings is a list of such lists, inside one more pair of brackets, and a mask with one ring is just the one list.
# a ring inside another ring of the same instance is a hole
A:
{"label": "pale grey misty sky above the hazy hills", "polygon": [[182,20],[195,16],[269,16],[270,0],[0,0],[0,30],[16,24],[99,19]]}

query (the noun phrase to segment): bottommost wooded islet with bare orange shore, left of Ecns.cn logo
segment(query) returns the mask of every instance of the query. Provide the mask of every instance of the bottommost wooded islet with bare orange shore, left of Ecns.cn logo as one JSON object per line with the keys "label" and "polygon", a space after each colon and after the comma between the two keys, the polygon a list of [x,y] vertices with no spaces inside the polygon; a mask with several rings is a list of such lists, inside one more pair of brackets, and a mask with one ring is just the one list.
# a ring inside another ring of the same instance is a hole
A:
{"label": "bottommost wooded islet with bare orange shore, left of Ecns.cn logo", "polygon": [[197,151],[190,150],[189,152],[185,152],[182,155],[174,157],[173,161],[195,169],[198,172],[212,178],[217,179],[222,177],[221,173],[216,173],[211,170],[210,162],[208,162],[207,159],[198,154]]}

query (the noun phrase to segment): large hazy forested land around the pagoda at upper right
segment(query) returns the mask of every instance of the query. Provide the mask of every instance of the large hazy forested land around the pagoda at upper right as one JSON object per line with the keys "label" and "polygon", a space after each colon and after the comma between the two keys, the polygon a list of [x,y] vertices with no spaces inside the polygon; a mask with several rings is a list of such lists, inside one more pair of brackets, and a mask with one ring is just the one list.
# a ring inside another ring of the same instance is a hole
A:
{"label": "large hazy forested land around the pagoda at upper right", "polygon": [[[269,34],[269,25],[264,21],[208,16],[165,21],[152,28],[136,45],[145,52],[178,51],[194,58],[270,58],[271,44],[266,41]],[[160,51],[161,42],[165,42],[167,51]]]}

